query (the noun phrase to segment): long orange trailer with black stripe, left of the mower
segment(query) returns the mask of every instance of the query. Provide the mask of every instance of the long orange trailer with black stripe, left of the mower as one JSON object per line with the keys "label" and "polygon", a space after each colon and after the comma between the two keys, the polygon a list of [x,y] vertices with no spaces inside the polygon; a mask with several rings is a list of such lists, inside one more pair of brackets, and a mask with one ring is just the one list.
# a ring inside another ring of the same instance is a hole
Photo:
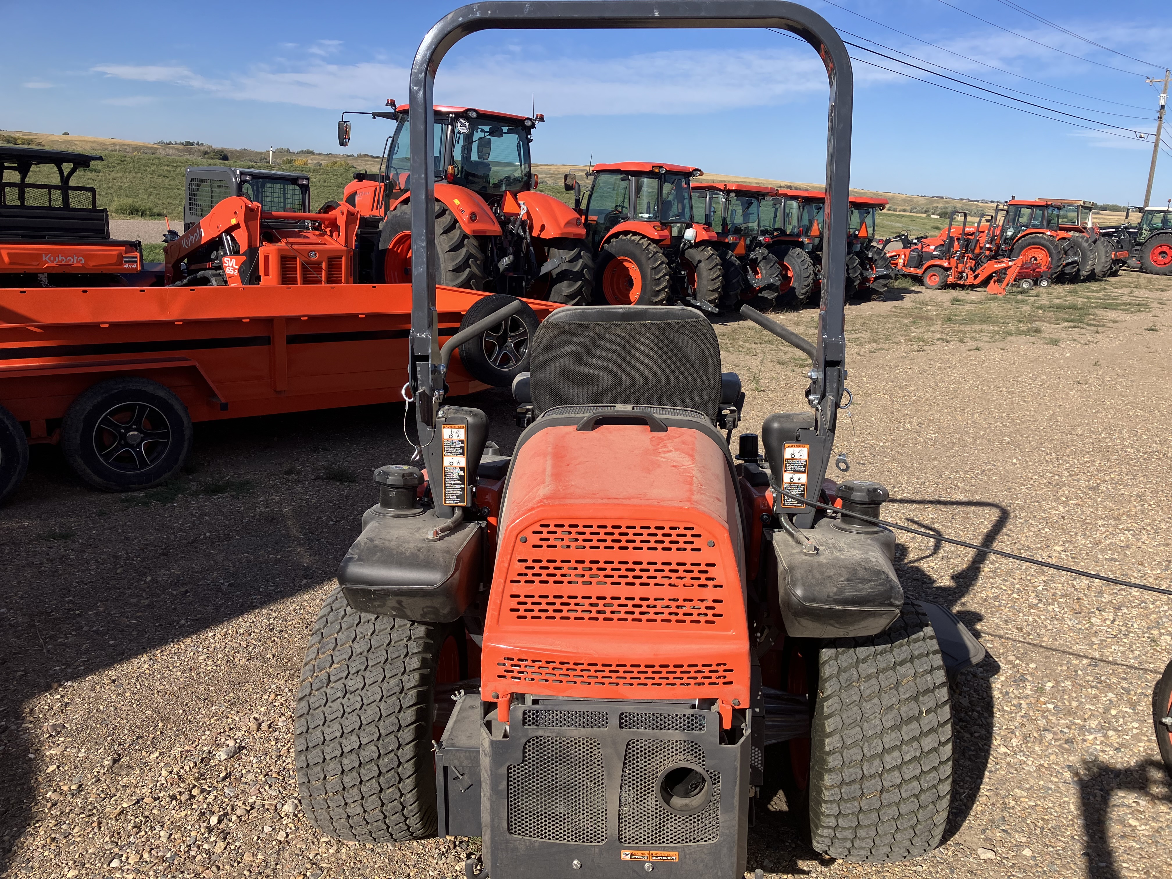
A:
{"label": "long orange trailer with black stripe, left of the mower", "polygon": [[[441,342],[510,297],[440,287]],[[451,394],[506,386],[557,305],[530,301],[462,345]],[[0,500],[28,444],[60,443],[108,491],[175,476],[191,424],[386,403],[407,381],[407,284],[0,289]]]}

